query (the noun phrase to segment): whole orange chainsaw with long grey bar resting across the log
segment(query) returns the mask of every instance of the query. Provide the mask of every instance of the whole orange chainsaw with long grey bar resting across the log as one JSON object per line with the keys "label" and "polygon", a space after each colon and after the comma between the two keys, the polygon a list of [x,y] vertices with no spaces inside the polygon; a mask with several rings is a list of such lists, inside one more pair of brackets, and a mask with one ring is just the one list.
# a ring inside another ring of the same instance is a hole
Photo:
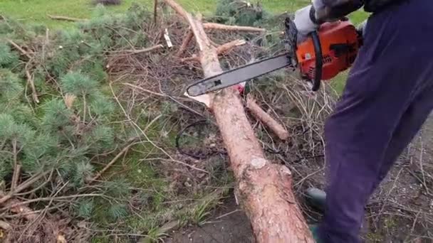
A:
{"label": "whole orange chainsaw with long grey bar resting across the log", "polygon": [[301,43],[297,43],[298,30],[291,18],[286,18],[284,24],[284,53],[194,82],[187,87],[187,94],[204,95],[281,68],[300,70],[303,80],[310,82],[315,92],[320,89],[322,80],[330,80],[350,68],[362,45],[362,33],[348,18],[323,23]]}

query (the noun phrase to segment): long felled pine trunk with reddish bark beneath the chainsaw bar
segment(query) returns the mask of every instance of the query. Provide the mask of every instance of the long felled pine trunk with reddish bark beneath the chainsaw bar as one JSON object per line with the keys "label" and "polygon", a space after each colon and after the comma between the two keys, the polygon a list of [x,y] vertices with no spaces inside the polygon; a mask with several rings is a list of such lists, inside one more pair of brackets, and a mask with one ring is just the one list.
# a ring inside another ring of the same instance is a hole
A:
{"label": "long felled pine trunk with reddish bark beneath the chainsaw bar", "polygon": [[[201,21],[174,0],[164,0],[191,26],[199,46],[205,77],[222,72],[216,48]],[[241,204],[246,210],[257,242],[311,242],[313,238],[291,190],[291,171],[268,161],[246,118],[239,92],[226,88],[212,96],[209,108],[230,157]]]}

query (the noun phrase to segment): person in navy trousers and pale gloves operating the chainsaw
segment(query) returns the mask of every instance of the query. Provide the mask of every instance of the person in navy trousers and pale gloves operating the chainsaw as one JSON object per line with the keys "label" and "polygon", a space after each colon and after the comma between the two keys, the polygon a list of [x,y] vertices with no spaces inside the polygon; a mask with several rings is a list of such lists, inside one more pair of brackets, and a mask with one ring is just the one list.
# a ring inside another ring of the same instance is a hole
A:
{"label": "person in navy trousers and pale gloves operating the chainsaw", "polygon": [[[298,35],[362,6],[372,12],[363,46],[325,124],[319,242],[360,242],[367,200],[433,108],[432,0],[313,0],[296,12]],[[317,189],[308,194],[320,200]]]}

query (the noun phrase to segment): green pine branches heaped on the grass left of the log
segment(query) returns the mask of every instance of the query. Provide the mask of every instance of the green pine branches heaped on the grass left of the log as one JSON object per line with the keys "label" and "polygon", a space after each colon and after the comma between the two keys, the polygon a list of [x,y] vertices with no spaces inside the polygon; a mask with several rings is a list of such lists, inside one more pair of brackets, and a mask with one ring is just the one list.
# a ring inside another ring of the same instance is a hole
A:
{"label": "green pine branches heaped on the grass left of the log", "polygon": [[[163,194],[168,183],[156,178],[154,169],[140,161],[143,156],[140,149],[160,156],[145,147],[145,143],[125,155],[122,163],[129,166],[129,174],[113,173],[125,169],[115,167],[124,166],[119,159],[110,168],[113,171],[106,171],[100,178],[108,181],[90,183],[125,146],[125,141],[137,136],[137,131],[127,122],[117,122],[116,115],[122,114],[122,110],[107,92],[107,55],[123,49],[149,47],[143,22],[150,21],[152,13],[143,6],[133,5],[126,14],[108,13],[103,6],[98,6],[89,21],[78,23],[75,29],[50,30],[47,40],[43,26],[22,26],[9,19],[7,23],[0,20],[0,40],[14,40],[31,55],[29,60],[9,43],[0,42],[0,183],[4,182],[6,192],[16,158],[22,166],[20,182],[42,171],[52,172],[48,183],[43,183],[47,175],[28,188],[41,186],[31,197],[52,196],[65,184],[57,196],[99,195],[71,200],[68,205],[62,201],[60,207],[84,220],[100,224],[133,221],[132,207],[128,204],[131,198],[138,202],[134,205],[135,212],[139,207],[144,210],[143,215],[146,210],[171,207],[161,206],[167,199]],[[33,102],[25,65],[33,77],[39,103]],[[162,109],[173,112],[177,107],[167,103]],[[140,126],[145,126],[145,122],[140,121]],[[137,187],[143,190],[137,191]],[[153,193],[154,190],[163,193]],[[29,207],[43,208],[45,203],[36,202]],[[158,224],[168,220],[169,216],[152,219]]]}

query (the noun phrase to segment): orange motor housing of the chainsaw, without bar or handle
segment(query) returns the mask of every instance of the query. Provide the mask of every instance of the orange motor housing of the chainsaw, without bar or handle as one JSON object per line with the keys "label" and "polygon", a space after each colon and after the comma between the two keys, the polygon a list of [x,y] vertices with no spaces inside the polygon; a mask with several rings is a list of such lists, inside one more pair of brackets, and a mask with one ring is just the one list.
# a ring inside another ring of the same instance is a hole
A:
{"label": "orange motor housing of the chainsaw, without bar or handle", "polygon": [[[318,30],[318,37],[323,57],[321,80],[330,80],[353,64],[360,48],[360,36],[350,21],[336,21],[323,23]],[[301,74],[313,79],[316,57],[311,37],[298,43],[296,58]]]}

